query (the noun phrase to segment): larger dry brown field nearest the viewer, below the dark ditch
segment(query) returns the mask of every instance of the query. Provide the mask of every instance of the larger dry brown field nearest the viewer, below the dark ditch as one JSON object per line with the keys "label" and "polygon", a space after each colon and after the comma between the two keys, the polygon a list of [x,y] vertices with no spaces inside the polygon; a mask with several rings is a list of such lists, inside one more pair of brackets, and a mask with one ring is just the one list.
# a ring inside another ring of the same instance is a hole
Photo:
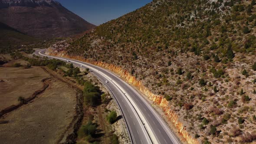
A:
{"label": "larger dry brown field nearest the viewer, below the dark ditch", "polygon": [[[23,105],[0,121],[2,144],[53,144],[63,139],[75,115],[76,91],[57,79],[38,98]],[[64,137],[65,138],[65,137]]]}

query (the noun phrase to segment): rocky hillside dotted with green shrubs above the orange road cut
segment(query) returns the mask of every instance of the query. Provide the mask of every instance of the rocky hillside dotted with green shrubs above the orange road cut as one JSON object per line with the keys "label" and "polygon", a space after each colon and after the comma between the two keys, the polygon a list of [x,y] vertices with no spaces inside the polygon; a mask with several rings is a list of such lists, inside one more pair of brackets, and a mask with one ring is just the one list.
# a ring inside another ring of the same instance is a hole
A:
{"label": "rocky hillside dotted with green shrubs above the orange road cut", "polygon": [[153,0],[53,47],[128,70],[197,141],[256,141],[254,0]]}

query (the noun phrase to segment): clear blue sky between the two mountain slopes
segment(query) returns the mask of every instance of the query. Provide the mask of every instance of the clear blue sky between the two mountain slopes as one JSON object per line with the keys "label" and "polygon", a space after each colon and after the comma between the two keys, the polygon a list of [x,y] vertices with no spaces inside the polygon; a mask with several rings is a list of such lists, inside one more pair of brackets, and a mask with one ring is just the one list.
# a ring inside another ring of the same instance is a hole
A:
{"label": "clear blue sky between the two mountain slopes", "polygon": [[100,25],[116,19],[152,0],[57,0],[62,6],[79,15],[86,21]]}

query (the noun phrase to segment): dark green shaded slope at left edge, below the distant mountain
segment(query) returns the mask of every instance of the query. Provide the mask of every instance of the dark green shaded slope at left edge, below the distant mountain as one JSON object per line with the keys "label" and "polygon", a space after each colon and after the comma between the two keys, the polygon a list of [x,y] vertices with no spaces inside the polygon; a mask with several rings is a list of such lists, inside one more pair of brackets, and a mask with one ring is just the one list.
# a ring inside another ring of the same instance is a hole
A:
{"label": "dark green shaded slope at left edge, below the distant mountain", "polygon": [[14,29],[4,23],[0,22],[0,49],[6,49],[10,46],[27,45],[34,42],[39,42],[40,39],[28,36],[21,33],[17,29]]}

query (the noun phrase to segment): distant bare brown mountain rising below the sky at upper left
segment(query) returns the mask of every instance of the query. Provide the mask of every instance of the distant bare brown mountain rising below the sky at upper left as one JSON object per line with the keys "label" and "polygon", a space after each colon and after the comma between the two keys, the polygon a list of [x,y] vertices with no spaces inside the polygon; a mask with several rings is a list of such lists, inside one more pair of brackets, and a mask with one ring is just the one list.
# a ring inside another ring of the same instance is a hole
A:
{"label": "distant bare brown mountain rising below the sky at upper left", "polygon": [[0,0],[0,22],[37,37],[62,37],[95,26],[55,0]]}

